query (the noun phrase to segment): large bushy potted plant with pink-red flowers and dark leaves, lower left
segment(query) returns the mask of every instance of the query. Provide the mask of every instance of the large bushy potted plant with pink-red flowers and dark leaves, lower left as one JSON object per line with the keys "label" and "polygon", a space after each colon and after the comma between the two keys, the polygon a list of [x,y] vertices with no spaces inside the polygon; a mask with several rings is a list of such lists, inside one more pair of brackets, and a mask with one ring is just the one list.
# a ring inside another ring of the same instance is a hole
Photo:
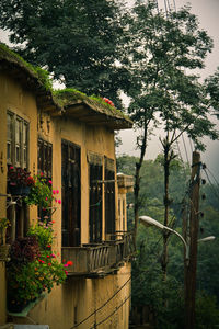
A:
{"label": "large bushy potted plant with pink-red flowers and dark leaves, lower left", "polygon": [[58,261],[51,250],[53,232],[51,222],[39,222],[30,228],[26,238],[12,243],[7,271],[9,311],[22,311],[66,280],[66,268],[72,262]]}

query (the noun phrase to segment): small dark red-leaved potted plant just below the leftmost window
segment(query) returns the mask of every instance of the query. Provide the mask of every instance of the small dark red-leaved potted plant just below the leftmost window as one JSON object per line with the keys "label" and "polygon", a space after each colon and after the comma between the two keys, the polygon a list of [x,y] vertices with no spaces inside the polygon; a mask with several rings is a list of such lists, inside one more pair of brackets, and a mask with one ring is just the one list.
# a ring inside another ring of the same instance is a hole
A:
{"label": "small dark red-leaved potted plant just below the leftmost window", "polygon": [[27,195],[35,181],[31,173],[22,168],[12,166],[8,169],[8,188],[12,195]]}

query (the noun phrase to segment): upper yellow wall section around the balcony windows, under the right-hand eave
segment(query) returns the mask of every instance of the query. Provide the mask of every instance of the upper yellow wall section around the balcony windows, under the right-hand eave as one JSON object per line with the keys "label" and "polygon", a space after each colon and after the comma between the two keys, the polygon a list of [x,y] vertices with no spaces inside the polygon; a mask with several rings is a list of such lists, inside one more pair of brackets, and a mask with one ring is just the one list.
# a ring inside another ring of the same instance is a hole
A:
{"label": "upper yellow wall section around the balcony windows, under the right-hand eave", "polygon": [[[71,141],[81,148],[81,243],[89,242],[89,163],[88,151],[115,159],[114,133],[103,126],[88,126],[79,121],[61,117],[41,116],[43,125],[39,136],[53,144],[53,185],[61,191],[61,139]],[[117,195],[117,190],[116,190]],[[116,205],[117,209],[117,205]],[[116,217],[117,218],[117,217]],[[57,248],[61,247],[61,206],[54,214],[57,229]],[[104,222],[104,209],[103,209]],[[117,229],[117,228],[116,228]],[[104,231],[103,231],[104,238]]]}

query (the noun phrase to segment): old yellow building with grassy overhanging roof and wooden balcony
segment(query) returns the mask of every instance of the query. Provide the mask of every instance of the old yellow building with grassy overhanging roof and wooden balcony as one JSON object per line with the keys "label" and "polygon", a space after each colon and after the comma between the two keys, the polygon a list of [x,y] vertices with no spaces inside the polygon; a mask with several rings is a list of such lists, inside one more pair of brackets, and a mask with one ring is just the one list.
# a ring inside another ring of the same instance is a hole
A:
{"label": "old yellow building with grassy overhanging roof and wooden balcony", "polygon": [[25,236],[38,209],[9,194],[8,168],[43,172],[61,192],[61,204],[53,213],[53,247],[60,259],[73,262],[62,285],[26,313],[9,314],[7,259],[0,259],[0,325],[128,328],[134,245],[126,217],[120,223],[118,214],[114,131],[130,128],[131,121],[77,91],[55,97],[37,72],[4,46],[0,100],[0,218],[11,222],[10,241]]}

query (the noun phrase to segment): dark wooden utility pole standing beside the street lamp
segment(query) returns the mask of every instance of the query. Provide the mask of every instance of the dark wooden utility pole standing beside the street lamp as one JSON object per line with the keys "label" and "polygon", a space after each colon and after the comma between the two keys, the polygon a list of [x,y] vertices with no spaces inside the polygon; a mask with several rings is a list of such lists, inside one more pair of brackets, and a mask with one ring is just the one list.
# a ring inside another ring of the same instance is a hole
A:
{"label": "dark wooden utility pole standing beside the street lamp", "polygon": [[193,152],[191,175],[191,215],[189,215],[189,262],[185,263],[185,329],[195,328],[195,294],[197,270],[197,240],[198,240],[198,208],[200,185],[200,155]]}

